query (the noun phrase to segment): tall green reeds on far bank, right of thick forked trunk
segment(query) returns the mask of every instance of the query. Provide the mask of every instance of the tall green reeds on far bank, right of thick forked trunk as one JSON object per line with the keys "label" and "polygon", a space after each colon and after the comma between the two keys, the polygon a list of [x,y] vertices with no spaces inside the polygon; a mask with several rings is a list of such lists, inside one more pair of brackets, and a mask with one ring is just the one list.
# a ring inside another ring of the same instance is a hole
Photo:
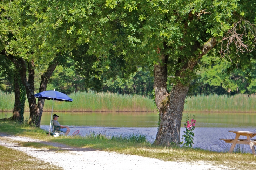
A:
{"label": "tall green reeds on far bank, right of thick forked trunk", "polygon": [[256,95],[237,94],[193,96],[187,99],[184,111],[195,112],[256,112]]}

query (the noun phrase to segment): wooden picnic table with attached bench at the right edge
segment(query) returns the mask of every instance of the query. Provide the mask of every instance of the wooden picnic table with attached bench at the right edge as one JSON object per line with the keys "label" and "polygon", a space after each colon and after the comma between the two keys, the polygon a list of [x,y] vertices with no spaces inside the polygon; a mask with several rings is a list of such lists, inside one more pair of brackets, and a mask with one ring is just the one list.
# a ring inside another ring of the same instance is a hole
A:
{"label": "wooden picnic table with attached bench at the right edge", "polygon": [[[234,131],[229,130],[228,132],[233,132],[236,134],[235,139],[220,139],[224,140],[226,143],[233,143],[231,145],[231,148],[229,150],[229,153],[231,154],[234,150],[236,144],[248,144],[250,145],[252,154],[256,155],[256,150],[254,145],[256,145],[256,139],[251,139],[252,137],[256,136],[256,131]],[[239,139],[240,136],[246,136],[246,139]]]}

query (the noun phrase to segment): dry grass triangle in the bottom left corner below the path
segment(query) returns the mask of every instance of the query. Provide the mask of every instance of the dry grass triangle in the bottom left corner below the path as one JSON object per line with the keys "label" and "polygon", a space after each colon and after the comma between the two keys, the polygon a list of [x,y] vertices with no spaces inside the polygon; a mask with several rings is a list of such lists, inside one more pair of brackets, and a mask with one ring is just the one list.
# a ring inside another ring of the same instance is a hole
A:
{"label": "dry grass triangle in the bottom left corner below the path", "polygon": [[26,153],[0,146],[1,170],[63,170],[61,167],[50,165],[37,160]]}

